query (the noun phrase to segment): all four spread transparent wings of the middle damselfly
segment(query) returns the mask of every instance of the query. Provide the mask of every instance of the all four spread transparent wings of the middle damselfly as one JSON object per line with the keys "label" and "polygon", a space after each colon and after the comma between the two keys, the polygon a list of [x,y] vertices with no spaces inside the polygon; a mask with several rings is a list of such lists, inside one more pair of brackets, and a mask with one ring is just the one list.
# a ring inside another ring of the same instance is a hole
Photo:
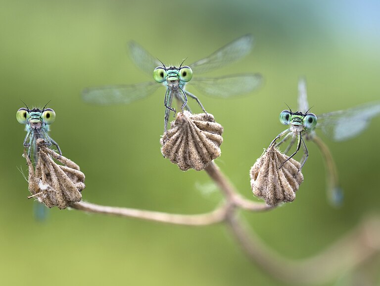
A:
{"label": "all four spread transparent wings of the middle damselfly", "polygon": [[[262,81],[260,74],[236,74],[216,78],[196,78],[197,74],[222,67],[249,54],[252,49],[253,38],[245,35],[227,44],[208,57],[190,64],[195,77],[190,84],[201,93],[219,98],[229,98],[248,93],[257,89]],[[144,72],[152,76],[153,70],[162,63],[152,57],[136,42],[129,43],[129,50],[133,62]],[[82,92],[87,102],[109,105],[128,104],[152,94],[161,85],[154,82],[142,82],[131,85],[109,85],[87,88]]]}

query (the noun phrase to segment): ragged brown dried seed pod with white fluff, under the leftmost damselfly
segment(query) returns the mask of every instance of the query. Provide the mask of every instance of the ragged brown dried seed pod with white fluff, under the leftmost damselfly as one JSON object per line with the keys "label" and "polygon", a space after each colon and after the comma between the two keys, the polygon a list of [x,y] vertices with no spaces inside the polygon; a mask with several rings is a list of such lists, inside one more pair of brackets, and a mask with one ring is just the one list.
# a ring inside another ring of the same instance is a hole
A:
{"label": "ragged brown dried seed pod with white fluff, under the leftmost damselfly", "polygon": [[[65,209],[82,199],[85,174],[77,164],[55,153],[44,143],[44,139],[37,139],[38,161],[35,169],[24,150],[29,166],[29,191],[32,194],[28,198],[36,197],[48,208],[57,206]],[[52,158],[63,165],[58,165]]]}

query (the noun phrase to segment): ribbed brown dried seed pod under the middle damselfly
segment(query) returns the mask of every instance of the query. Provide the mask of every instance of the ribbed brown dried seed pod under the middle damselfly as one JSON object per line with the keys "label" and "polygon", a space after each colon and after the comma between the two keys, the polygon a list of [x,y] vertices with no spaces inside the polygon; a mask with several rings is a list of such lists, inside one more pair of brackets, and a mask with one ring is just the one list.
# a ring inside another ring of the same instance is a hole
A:
{"label": "ribbed brown dried seed pod under the middle damselfly", "polygon": [[212,114],[178,113],[171,128],[162,136],[161,153],[183,170],[203,170],[220,156],[223,126]]}

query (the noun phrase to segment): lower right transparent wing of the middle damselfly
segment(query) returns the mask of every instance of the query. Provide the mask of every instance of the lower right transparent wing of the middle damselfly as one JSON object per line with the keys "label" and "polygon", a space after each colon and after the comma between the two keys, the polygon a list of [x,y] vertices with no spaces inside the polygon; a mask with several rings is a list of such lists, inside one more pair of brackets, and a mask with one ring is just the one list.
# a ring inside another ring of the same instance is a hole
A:
{"label": "lower right transparent wing of the middle damselfly", "polygon": [[196,78],[191,85],[201,93],[213,97],[230,98],[249,93],[260,87],[262,76],[258,73],[237,74],[215,78]]}

